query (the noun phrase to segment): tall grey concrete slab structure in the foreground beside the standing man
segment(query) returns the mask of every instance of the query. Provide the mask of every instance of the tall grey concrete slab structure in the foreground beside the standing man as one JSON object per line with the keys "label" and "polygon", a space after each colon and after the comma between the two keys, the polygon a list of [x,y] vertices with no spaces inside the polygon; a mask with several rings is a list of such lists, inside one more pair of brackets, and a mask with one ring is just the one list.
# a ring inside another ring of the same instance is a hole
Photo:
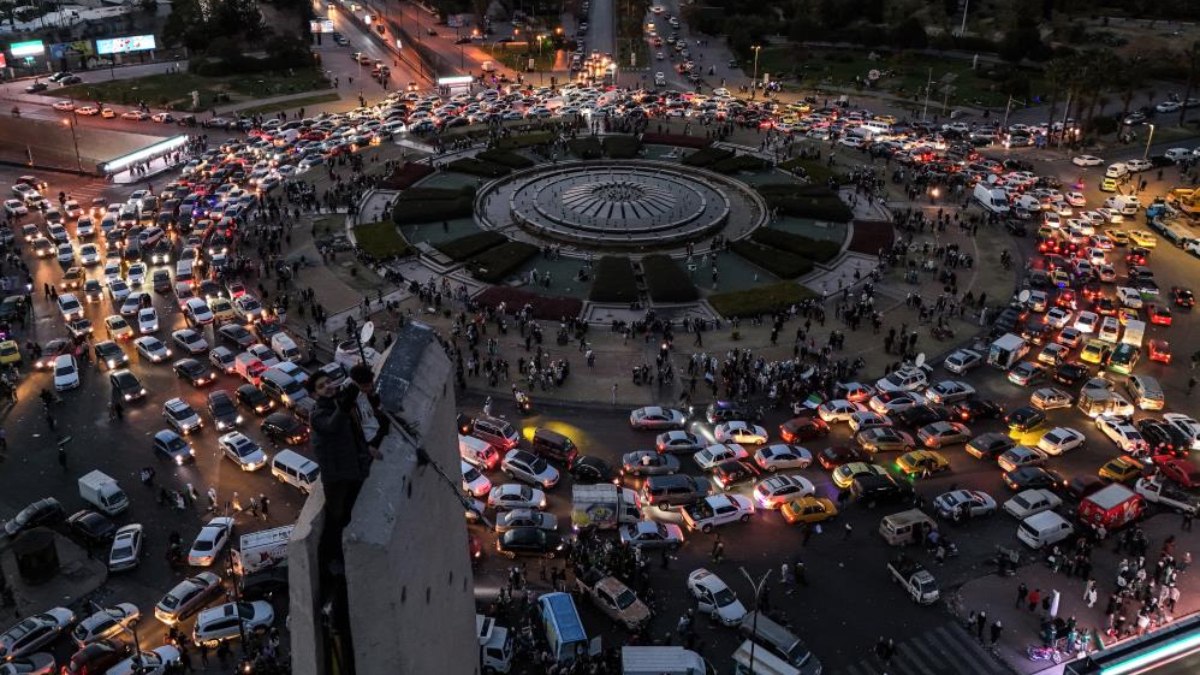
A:
{"label": "tall grey concrete slab structure in the foreground beside the standing man", "polygon": [[[479,670],[467,528],[456,497],[461,476],[452,376],[440,344],[421,324],[400,331],[378,369],[384,407],[408,420],[419,438],[414,443],[407,432],[392,430],[343,536],[360,675]],[[403,412],[397,412],[401,406]],[[418,467],[416,446],[431,465]],[[318,498],[314,492],[305,506],[290,550],[310,561],[319,532],[310,527]],[[320,640],[306,639],[320,632],[311,599],[314,575],[311,565],[296,562],[290,573],[292,667],[298,674],[317,675],[323,670],[316,664],[324,659],[312,645]]]}

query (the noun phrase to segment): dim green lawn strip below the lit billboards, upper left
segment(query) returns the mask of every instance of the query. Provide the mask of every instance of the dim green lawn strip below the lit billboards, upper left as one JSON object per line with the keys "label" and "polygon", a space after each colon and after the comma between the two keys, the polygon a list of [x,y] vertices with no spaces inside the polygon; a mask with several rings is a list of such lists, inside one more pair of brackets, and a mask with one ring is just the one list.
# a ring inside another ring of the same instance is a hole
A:
{"label": "dim green lawn strip below the lit billboards, upper left", "polygon": [[[329,82],[320,71],[287,73],[254,73],[250,76],[202,77],[191,73],[151,74],[132,79],[76,84],[55,89],[58,98],[68,97],[84,101],[100,100],[106,103],[136,104],[145,101],[150,106],[170,107],[178,110],[192,108],[192,91],[200,95],[200,109],[217,106],[218,94],[229,102],[254,101],[270,96],[299,94],[329,89]],[[220,104],[223,104],[222,101]]]}

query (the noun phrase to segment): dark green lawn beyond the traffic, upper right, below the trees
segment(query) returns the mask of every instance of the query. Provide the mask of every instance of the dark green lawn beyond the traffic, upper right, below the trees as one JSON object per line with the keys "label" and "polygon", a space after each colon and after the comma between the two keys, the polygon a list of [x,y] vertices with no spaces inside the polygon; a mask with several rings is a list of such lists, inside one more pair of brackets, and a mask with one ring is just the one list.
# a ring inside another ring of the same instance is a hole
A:
{"label": "dark green lawn beyond the traffic, upper right, below the trees", "polygon": [[[898,96],[924,101],[924,88],[932,68],[934,92],[930,96],[931,107],[941,107],[944,97],[944,85],[949,85],[949,106],[980,102],[985,106],[1004,106],[1008,102],[1008,79],[1004,73],[1010,70],[1007,64],[980,62],[978,70],[971,68],[970,59],[948,56],[926,56],[907,52],[894,53],[882,59],[868,59],[870,50],[836,49],[806,50],[798,56],[791,46],[768,47],[762,50],[758,71],[773,76],[798,79],[803,88],[854,86],[854,78],[866,79],[871,70],[886,73],[877,80],[877,86]],[[887,74],[889,73],[890,74]],[[989,76],[989,72],[992,72]],[[1032,94],[1045,91],[1045,80],[1040,72],[1020,70],[1013,77],[1028,80]],[[1021,96],[1018,96],[1019,98]]]}

